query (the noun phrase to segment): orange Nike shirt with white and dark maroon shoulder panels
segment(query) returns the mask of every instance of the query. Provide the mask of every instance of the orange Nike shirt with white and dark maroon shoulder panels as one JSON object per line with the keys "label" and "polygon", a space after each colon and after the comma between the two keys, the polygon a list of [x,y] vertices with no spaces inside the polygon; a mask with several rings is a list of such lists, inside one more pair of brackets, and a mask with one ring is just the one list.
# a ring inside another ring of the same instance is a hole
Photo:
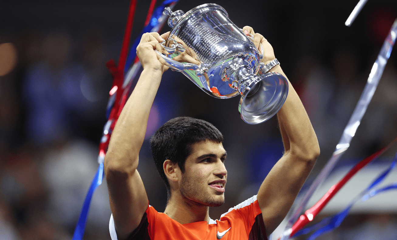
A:
{"label": "orange Nike shirt with white and dark maroon shoulder panels", "polygon": [[[117,240],[113,216],[109,223],[112,240]],[[220,220],[180,224],[148,206],[142,221],[128,240],[267,240],[256,195],[222,214]]]}

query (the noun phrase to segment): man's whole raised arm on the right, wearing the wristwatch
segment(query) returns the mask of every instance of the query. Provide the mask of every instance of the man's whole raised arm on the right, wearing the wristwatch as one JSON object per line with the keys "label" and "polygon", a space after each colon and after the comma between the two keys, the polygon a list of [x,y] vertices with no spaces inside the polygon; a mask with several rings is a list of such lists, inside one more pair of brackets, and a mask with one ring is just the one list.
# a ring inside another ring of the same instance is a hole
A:
{"label": "man's whole raised arm on the right, wearing the wristwatch", "polygon": [[[256,46],[259,42],[262,44],[262,61],[265,64],[276,58],[272,46],[262,35],[255,34],[251,27],[244,27],[244,30],[254,35]],[[279,65],[270,71],[285,76]],[[266,176],[257,196],[267,235],[271,234],[287,215],[320,154],[316,133],[301,99],[289,80],[288,84],[287,99],[277,113],[285,152]]]}

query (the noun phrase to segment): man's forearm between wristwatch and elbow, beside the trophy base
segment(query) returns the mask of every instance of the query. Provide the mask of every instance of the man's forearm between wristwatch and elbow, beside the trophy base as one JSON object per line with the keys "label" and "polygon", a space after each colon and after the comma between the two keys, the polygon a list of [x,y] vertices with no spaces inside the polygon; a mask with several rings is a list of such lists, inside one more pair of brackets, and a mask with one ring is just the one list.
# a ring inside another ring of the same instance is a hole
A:
{"label": "man's forearm between wristwatch and elbow, beside the trophy base", "polygon": [[[279,72],[285,76],[279,65],[271,71]],[[289,84],[288,96],[283,107],[277,113],[285,153],[306,160],[316,160],[320,154],[316,133],[301,99],[288,79],[287,81]]]}

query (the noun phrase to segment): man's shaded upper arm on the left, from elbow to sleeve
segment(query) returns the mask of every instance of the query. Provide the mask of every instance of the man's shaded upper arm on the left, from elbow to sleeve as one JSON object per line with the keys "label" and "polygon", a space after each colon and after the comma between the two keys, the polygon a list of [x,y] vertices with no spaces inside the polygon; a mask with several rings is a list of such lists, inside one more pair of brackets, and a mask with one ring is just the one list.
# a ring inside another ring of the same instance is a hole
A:
{"label": "man's shaded upper arm on the left, from elbow to sleeve", "polygon": [[148,198],[138,171],[133,173],[108,172],[110,208],[119,240],[135,230],[148,207]]}

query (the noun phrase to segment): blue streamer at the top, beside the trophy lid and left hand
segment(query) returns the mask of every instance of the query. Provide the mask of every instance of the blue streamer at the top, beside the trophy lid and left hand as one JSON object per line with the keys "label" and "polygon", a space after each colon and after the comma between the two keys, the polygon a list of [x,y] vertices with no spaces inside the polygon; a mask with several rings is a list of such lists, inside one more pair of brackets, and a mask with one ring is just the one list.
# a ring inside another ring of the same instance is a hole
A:
{"label": "blue streamer at the top, beside the trophy lid and left hand", "polygon": [[124,72],[128,71],[129,66],[133,63],[135,57],[137,56],[137,46],[139,42],[141,42],[142,35],[146,32],[150,32],[157,25],[158,19],[163,15],[164,8],[168,7],[170,4],[176,4],[177,2],[179,2],[179,0],[165,0],[153,11],[148,25],[143,28],[142,32],[135,39],[134,44],[132,44],[131,48],[129,49],[129,54],[127,60],[125,61]]}

